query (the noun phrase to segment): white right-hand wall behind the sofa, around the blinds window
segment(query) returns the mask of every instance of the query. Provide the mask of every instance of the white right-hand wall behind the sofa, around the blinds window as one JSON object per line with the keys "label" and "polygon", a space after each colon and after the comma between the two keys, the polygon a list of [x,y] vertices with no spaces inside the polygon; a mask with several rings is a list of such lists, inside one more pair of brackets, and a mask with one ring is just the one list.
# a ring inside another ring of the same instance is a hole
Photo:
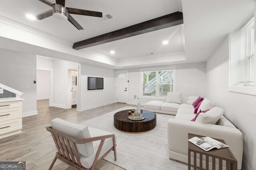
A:
{"label": "white right-hand wall behind the sofa, around the blinds window", "polygon": [[206,63],[207,97],[243,134],[243,170],[256,169],[256,96],[229,92],[229,46],[226,39]]}

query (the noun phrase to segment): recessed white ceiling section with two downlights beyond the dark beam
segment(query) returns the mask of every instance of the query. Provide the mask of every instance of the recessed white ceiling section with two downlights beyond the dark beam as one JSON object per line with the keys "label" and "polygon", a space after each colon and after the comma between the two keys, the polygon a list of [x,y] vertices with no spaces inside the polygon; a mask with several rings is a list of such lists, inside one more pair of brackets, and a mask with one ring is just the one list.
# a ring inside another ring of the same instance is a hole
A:
{"label": "recessed white ceiling section with two downlights beyond the dark beam", "polygon": [[[87,49],[108,55],[119,61],[134,58],[147,58],[154,55],[184,53],[182,27],[182,25],[176,25],[158,31],[96,45]],[[168,41],[168,44],[163,45],[163,41]],[[110,54],[112,50],[115,51],[114,54]]]}

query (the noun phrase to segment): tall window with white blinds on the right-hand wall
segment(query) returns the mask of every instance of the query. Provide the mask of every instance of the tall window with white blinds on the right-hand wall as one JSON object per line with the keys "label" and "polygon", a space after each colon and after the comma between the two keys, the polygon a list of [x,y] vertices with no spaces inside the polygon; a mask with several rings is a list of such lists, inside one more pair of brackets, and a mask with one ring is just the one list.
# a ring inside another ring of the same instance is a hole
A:
{"label": "tall window with white blinds on the right-hand wall", "polygon": [[242,27],[242,59],[240,82],[254,85],[254,17]]}

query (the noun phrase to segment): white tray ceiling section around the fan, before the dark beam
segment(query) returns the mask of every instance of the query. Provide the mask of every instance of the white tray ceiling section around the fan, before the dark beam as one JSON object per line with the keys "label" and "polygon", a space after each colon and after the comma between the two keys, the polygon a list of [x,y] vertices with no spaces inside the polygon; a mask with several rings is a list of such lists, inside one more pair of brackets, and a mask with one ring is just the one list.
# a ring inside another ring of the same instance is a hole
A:
{"label": "white tray ceiling section around the fan, before the dark beam", "polygon": [[[55,3],[55,0],[49,1]],[[0,16],[72,42],[178,11],[177,0],[66,0],[66,7],[109,13],[113,16],[111,20],[100,23],[96,17],[71,14],[84,28],[78,30],[69,21],[60,21],[53,16],[44,20],[28,20],[26,14],[37,15],[51,10],[50,6],[38,0],[1,0],[0,2]]]}

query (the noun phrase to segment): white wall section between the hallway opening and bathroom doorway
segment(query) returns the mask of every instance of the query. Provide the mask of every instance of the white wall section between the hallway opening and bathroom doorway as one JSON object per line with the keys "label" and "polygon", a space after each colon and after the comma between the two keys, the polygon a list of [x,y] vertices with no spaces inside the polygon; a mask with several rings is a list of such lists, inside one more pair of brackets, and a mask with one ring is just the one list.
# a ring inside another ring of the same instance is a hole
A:
{"label": "white wall section between the hallway opening and bathroom doorway", "polygon": [[54,59],[53,106],[68,108],[68,68],[78,65],[78,63]]}

